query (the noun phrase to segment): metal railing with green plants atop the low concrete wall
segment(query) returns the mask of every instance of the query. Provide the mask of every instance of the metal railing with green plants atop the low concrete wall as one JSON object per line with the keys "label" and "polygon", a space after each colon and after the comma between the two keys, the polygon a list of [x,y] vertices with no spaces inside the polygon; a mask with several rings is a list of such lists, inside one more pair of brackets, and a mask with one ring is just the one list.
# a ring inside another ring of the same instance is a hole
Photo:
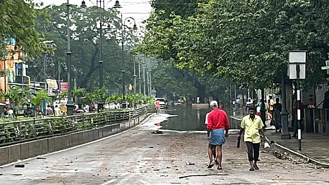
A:
{"label": "metal railing with green plants atop the low concrete wall", "polygon": [[139,117],[147,112],[149,112],[148,106],[143,106],[135,110],[110,110],[101,113],[4,122],[0,123],[0,145],[69,134],[116,123],[123,123],[121,130],[126,130],[135,125],[136,121],[139,122]]}

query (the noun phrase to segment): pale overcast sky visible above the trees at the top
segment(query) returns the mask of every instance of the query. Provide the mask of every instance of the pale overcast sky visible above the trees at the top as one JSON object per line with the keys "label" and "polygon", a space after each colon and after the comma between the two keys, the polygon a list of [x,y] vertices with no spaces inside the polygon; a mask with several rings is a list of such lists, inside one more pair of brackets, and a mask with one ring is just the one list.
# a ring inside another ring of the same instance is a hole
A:
{"label": "pale overcast sky visible above the trees at the top", "polygon": [[[37,0],[42,1],[45,6],[47,5],[61,5],[66,3],[67,0]],[[97,5],[97,0],[85,0],[87,6]],[[103,1],[103,0],[102,0]],[[81,5],[82,0],[69,0],[69,3],[75,5]],[[122,6],[121,10],[123,11],[123,18],[127,16],[132,16],[137,23],[137,26],[140,25],[142,21],[149,17],[149,12],[151,11],[151,5],[149,0],[119,0],[120,5]],[[106,8],[111,8],[115,4],[115,0],[105,0]]]}

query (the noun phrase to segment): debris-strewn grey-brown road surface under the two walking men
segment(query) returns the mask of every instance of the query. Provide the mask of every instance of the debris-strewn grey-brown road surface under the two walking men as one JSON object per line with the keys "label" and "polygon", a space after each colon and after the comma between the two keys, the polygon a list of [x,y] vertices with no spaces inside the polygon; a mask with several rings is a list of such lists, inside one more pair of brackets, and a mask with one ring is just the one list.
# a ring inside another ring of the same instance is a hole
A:
{"label": "debris-strewn grey-brown road surface under the two walking men", "polygon": [[329,184],[328,169],[269,153],[260,153],[260,171],[249,172],[245,145],[237,149],[235,135],[223,146],[223,171],[209,170],[205,133],[151,134],[167,116],[154,115],[118,136],[22,162],[24,168],[3,167],[0,184]]}

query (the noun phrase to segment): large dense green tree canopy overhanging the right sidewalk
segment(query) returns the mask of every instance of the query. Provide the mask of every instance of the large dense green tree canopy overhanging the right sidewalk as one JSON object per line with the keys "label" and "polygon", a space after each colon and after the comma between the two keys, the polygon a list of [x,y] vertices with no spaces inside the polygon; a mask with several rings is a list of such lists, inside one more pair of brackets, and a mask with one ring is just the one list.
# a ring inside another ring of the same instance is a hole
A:
{"label": "large dense green tree canopy overhanging the right sidewalk", "polygon": [[324,0],[208,0],[187,17],[155,11],[139,49],[180,69],[254,88],[271,86],[287,71],[289,50],[306,49],[307,80],[317,83],[329,52],[328,6]]}

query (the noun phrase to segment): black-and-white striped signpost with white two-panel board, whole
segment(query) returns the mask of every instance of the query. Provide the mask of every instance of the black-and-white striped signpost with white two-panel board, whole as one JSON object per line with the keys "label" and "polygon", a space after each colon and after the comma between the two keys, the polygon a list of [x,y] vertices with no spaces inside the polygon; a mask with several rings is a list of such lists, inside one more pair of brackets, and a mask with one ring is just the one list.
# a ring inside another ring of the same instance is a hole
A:
{"label": "black-and-white striped signpost with white two-panel board, whole", "polygon": [[[289,51],[289,79],[297,79],[296,95],[297,95],[297,125],[298,125],[298,150],[302,151],[302,116],[301,116],[301,93],[300,79],[306,78],[306,51],[297,50]],[[295,122],[296,123],[296,122]],[[295,125],[294,125],[295,127]],[[295,130],[294,130],[295,132]],[[295,133],[294,133],[295,134]]]}

